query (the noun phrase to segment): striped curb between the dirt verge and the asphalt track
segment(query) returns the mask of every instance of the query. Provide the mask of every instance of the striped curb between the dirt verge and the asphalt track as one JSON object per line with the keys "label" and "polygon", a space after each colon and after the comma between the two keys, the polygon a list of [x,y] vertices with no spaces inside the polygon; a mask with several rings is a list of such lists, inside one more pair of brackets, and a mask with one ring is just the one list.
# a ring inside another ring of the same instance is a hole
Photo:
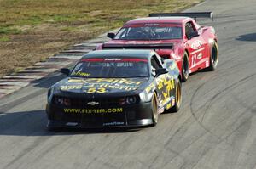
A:
{"label": "striped curb between the dirt verge and the asphalt track", "polygon": [[[113,30],[113,32],[118,31]],[[4,96],[26,87],[36,80],[40,80],[50,73],[60,70],[63,67],[72,65],[82,58],[84,54],[90,52],[93,48],[102,42],[107,42],[107,33],[88,41],[74,44],[72,47],[61,51],[59,54],[50,56],[42,62],[26,67],[16,73],[0,78],[0,99]]]}

